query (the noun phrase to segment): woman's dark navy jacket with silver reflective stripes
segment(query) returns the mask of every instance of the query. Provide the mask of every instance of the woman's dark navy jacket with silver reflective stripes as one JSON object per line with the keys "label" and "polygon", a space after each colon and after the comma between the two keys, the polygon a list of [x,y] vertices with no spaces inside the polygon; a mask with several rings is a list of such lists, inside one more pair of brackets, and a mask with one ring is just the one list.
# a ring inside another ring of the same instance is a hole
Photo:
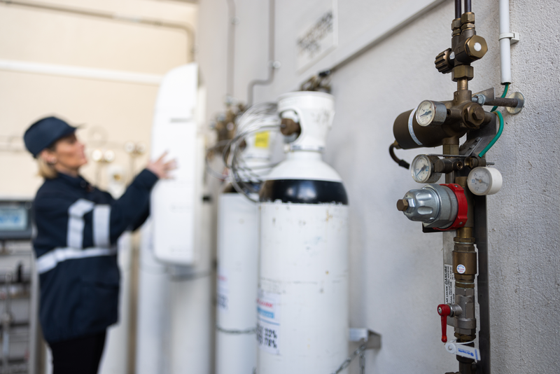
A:
{"label": "woman's dark navy jacket with silver reflective stripes", "polygon": [[144,170],[118,200],[81,176],[59,174],[39,188],[34,249],[47,342],[100,333],[118,321],[116,243],[148,217],[156,181]]}

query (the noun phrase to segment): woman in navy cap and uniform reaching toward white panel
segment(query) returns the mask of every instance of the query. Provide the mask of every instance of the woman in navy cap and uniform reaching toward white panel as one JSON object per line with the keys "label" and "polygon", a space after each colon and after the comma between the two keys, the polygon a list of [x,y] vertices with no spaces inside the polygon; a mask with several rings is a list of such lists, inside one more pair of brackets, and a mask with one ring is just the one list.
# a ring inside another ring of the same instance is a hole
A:
{"label": "woman in navy cap and uniform reaching toward white panel", "polygon": [[151,189],[174,168],[162,156],[114,200],[80,176],[87,159],[75,131],[64,120],[48,117],[24,135],[45,178],[34,200],[34,249],[39,317],[54,374],[97,373],[106,329],[118,321],[117,240],[144,223]]}

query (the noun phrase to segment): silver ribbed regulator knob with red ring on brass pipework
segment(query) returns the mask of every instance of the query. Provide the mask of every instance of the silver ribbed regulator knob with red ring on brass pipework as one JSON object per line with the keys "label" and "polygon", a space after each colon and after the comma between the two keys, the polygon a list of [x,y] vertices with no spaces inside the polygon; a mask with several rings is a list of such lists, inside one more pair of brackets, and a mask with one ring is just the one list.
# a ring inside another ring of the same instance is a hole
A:
{"label": "silver ribbed regulator knob with red ring on brass pipework", "polygon": [[410,221],[420,221],[425,228],[456,230],[467,222],[465,191],[455,183],[427,184],[410,190],[397,202],[397,209]]}

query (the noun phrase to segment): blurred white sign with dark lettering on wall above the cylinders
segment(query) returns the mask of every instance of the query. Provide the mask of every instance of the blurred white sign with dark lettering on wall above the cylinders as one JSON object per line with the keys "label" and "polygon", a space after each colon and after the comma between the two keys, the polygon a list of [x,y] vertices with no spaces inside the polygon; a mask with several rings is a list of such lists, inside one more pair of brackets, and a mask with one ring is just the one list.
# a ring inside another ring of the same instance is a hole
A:
{"label": "blurred white sign with dark lettering on wall above the cylinders", "polygon": [[321,17],[312,21],[297,36],[297,69],[314,64],[335,49],[338,43],[337,2],[329,2]]}

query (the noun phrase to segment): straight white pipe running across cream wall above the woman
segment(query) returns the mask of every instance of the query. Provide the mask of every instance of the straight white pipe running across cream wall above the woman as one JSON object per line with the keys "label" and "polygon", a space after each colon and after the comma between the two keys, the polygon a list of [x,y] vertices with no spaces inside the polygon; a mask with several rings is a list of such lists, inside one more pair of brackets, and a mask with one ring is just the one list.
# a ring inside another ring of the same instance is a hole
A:
{"label": "straight white pipe running across cream wall above the woman", "polygon": [[47,74],[53,76],[69,76],[72,78],[99,79],[122,83],[139,83],[160,85],[162,76],[155,74],[132,73],[130,71],[92,69],[71,65],[43,64],[41,62],[25,62],[0,60],[0,70],[18,71],[20,73]]}

